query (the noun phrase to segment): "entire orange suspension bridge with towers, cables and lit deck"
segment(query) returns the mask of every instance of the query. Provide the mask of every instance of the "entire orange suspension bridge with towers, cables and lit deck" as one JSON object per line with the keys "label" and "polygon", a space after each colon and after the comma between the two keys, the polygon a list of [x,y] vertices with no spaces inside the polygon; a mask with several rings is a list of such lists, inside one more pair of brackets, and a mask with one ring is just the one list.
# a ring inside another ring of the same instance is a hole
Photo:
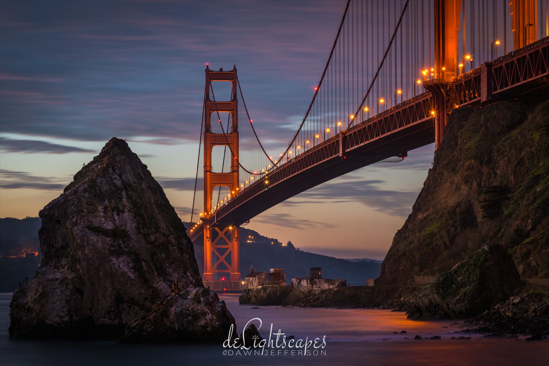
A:
{"label": "entire orange suspension bridge with towers, cables and lit deck", "polygon": [[[240,289],[239,226],[270,207],[358,168],[439,148],[455,108],[546,97],[548,5],[348,0],[312,100],[278,154],[257,136],[236,66],[206,64],[191,223],[195,202],[204,207],[189,229],[204,240],[204,284]],[[218,82],[231,88],[216,99]]]}

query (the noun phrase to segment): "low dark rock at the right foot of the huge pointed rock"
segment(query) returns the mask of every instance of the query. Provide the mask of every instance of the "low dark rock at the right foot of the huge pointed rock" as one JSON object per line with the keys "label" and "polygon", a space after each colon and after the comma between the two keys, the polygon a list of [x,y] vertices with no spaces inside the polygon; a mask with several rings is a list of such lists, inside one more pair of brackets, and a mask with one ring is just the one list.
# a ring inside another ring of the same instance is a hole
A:
{"label": "low dark rock at the right foot of the huge pointed rock", "polygon": [[203,287],[181,289],[172,287],[173,294],[155,303],[146,316],[126,326],[122,343],[157,342],[219,342],[227,339],[234,323],[224,301],[214,291]]}

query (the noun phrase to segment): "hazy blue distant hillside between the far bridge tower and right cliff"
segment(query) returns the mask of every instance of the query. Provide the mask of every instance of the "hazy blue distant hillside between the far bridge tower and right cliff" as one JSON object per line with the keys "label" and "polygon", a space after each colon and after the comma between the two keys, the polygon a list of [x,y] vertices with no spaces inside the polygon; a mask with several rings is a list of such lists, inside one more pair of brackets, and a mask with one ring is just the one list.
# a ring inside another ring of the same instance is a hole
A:
{"label": "hazy blue distant hillside between the far bridge tower and right cliff", "polygon": [[[186,226],[188,226],[187,223]],[[194,250],[200,269],[204,268],[202,240],[200,237],[194,241]],[[243,276],[249,273],[251,264],[257,271],[284,268],[288,283],[290,279],[298,275],[309,275],[311,267],[322,267],[322,277],[324,278],[344,278],[350,284],[363,284],[367,278],[377,278],[381,268],[381,261],[364,258],[364,260],[351,262],[301,251],[296,249],[291,242],[288,245],[277,239],[264,237],[254,230],[240,228],[240,273]]]}

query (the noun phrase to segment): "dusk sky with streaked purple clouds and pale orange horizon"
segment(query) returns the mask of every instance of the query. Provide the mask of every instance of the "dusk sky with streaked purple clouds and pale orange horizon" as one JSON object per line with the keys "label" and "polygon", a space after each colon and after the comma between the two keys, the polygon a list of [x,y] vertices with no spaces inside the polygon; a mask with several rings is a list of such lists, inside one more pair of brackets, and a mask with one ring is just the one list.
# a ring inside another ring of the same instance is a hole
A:
{"label": "dusk sky with streaked purple clouds and pale orange horizon", "polygon": [[[0,2],[0,217],[37,216],[115,136],[189,221],[205,63],[237,66],[257,134],[276,152],[305,114],[344,4]],[[383,259],[433,153],[333,179],[248,228],[301,250]]]}

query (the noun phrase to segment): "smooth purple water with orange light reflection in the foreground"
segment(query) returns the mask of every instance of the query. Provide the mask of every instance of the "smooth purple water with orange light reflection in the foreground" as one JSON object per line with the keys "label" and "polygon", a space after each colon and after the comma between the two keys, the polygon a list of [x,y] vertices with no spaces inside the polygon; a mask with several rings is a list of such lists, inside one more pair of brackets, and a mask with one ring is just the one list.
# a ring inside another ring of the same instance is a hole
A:
{"label": "smooth purple water with orange light reflection in the foreground", "polygon": [[[312,309],[238,305],[220,295],[237,321],[263,322],[260,334],[281,329],[295,339],[326,335],[325,355],[229,356],[222,345],[118,345],[110,341],[9,340],[11,294],[0,294],[0,364],[9,365],[547,365],[549,342],[507,339],[450,340],[460,330],[450,320],[407,320],[404,313],[376,309]],[[255,322],[259,325],[258,322]],[[448,328],[443,328],[447,326]],[[406,330],[407,334],[393,334]],[[417,340],[439,335],[441,340]],[[459,336],[459,335],[457,335]],[[409,337],[406,340],[404,337]]]}

